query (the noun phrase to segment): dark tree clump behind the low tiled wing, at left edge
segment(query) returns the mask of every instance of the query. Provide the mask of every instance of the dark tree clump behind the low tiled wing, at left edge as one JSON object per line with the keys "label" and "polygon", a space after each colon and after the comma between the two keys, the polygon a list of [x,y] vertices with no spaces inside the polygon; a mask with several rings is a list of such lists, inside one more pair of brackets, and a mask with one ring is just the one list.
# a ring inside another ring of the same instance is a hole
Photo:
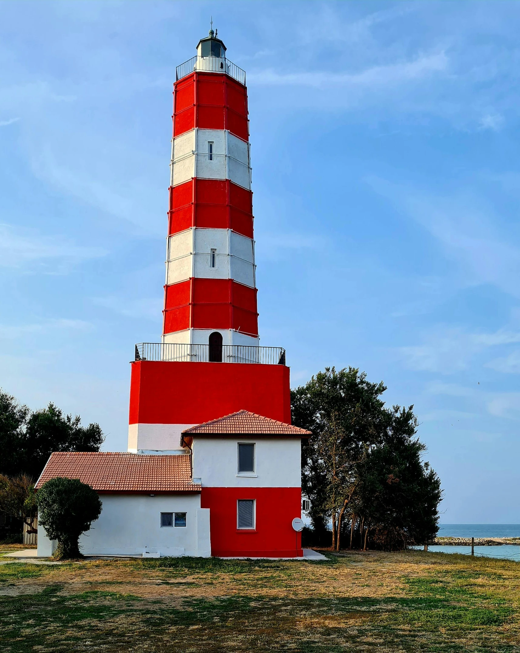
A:
{"label": "dark tree clump behind the low tiled wing, at left edge", "polygon": [[52,403],[30,411],[0,389],[0,473],[37,479],[53,451],[99,451],[103,441],[99,424],[81,426]]}

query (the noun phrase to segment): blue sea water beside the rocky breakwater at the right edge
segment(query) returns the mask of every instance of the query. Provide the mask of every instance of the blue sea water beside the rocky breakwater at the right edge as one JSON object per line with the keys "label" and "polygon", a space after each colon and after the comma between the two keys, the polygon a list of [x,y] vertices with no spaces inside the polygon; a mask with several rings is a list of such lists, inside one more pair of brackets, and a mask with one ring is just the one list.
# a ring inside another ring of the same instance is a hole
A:
{"label": "blue sea water beside the rocky breakwater at the right edge", "polygon": [[[439,524],[438,537],[520,537],[520,524]],[[421,548],[421,547],[417,547]],[[471,547],[450,547],[437,544],[428,545],[429,551],[440,553],[461,553],[471,555]],[[476,556],[503,558],[520,562],[520,546],[498,545],[475,547]]]}

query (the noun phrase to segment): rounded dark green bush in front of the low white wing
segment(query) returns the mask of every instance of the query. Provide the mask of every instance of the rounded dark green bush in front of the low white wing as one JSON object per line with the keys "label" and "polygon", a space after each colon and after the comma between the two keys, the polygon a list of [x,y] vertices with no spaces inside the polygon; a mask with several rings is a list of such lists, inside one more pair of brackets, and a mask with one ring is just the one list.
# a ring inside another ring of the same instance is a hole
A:
{"label": "rounded dark green bush in front of the low white wing", "polygon": [[56,477],[36,493],[38,524],[50,539],[58,541],[55,557],[80,558],[79,535],[90,529],[101,514],[102,503],[95,490],[79,479]]}

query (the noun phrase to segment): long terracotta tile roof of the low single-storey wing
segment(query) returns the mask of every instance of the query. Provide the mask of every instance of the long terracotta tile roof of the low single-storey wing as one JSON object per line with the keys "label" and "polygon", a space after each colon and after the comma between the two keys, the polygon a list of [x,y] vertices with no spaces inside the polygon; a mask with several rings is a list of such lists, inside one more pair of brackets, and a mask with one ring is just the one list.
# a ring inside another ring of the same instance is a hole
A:
{"label": "long terracotta tile roof of the low single-storey wing", "polygon": [[79,479],[104,492],[200,492],[192,483],[190,456],[90,451],[51,454],[36,489],[57,476]]}

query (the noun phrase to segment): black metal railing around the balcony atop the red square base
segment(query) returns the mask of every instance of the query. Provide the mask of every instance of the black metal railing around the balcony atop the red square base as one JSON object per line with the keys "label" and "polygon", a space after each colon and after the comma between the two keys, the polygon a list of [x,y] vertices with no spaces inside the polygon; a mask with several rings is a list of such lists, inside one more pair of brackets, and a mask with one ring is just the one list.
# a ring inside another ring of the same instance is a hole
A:
{"label": "black metal railing around the balcony atop the red square base", "polygon": [[261,363],[285,365],[283,347],[252,347],[250,345],[190,345],[171,342],[141,342],[136,345],[135,360]]}

